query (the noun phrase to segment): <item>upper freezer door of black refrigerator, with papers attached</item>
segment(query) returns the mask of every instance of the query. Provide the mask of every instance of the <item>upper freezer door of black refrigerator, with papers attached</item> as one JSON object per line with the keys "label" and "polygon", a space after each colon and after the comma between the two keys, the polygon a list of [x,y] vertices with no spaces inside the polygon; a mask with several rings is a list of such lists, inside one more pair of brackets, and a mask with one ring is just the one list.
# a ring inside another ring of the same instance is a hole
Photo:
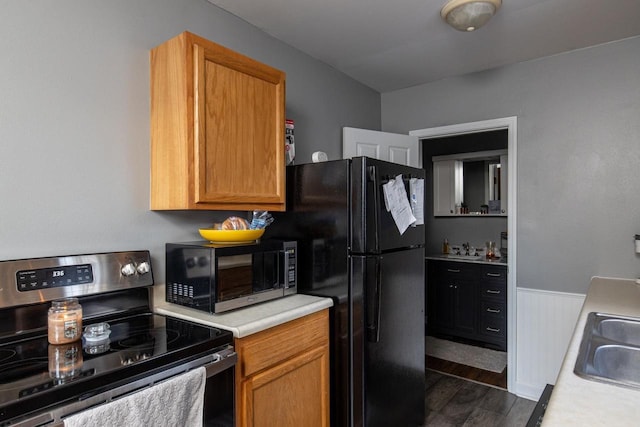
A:
{"label": "upper freezer door of black refrigerator, with papers attached", "polygon": [[410,194],[409,179],[424,179],[424,169],[368,157],[354,157],[351,167],[352,252],[379,254],[424,245],[424,225],[411,226],[400,234],[391,212],[386,210],[382,189],[389,180],[402,175]]}

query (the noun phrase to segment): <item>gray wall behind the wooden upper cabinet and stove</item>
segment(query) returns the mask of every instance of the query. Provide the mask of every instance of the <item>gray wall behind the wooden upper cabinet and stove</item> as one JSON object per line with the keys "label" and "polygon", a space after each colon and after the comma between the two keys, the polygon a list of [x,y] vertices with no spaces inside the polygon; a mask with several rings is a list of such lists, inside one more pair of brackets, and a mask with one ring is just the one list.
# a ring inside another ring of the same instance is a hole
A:
{"label": "gray wall behind the wooden upper cabinet and stove", "polygon": [[287,73],[297,162],[380,128],[380,94],[206,0],[3,1],[0,259],[150,249],[163,282],[164,243],[227,216],[149,211],[149,50],[184,30]]}

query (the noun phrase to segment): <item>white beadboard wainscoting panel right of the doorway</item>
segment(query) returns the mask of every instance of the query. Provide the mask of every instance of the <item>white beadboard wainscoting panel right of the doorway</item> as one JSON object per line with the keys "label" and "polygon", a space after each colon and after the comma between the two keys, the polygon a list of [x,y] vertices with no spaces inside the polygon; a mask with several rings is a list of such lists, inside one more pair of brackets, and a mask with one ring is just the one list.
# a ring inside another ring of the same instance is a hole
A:
{"label": "white beadboard wainscoting panel right of the doorway", "polygon": [[585,297],[517,288],[516,378],[510,391],[538,400],[545,385],[555,384]]}

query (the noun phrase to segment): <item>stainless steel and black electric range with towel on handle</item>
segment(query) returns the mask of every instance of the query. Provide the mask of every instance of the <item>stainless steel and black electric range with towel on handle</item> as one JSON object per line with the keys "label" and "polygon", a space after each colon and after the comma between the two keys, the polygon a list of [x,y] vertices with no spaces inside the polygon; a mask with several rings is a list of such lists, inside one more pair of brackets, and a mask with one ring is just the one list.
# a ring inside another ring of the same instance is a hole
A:
{"label": "stainless steel and black electric range with towel on handle", "polygon": [[[65,417],[201,366],[205,425],[233,425],[232,334],[153,314],[148,251],[0,261],[0,426]],[[108,337],[49,344],[51,301],[78,298]]]}

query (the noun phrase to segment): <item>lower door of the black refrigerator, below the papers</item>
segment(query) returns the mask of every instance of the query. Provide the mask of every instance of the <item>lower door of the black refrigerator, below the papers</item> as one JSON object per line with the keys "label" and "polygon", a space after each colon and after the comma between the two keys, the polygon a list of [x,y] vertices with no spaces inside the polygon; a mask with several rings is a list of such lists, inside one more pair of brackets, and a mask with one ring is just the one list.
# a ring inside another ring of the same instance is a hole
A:
{"label": "lower door of the black refrigerator, below the papers", "polygon": [[[352,260],[354,279],[363,280],[365,301],[364,425],[422,425],[424,250],[353,256]],[[354,316],[357,318],[358,313]],[[358,354],[355,348],[354,355]],[[358,410],[354,408],[354,413]]]}

